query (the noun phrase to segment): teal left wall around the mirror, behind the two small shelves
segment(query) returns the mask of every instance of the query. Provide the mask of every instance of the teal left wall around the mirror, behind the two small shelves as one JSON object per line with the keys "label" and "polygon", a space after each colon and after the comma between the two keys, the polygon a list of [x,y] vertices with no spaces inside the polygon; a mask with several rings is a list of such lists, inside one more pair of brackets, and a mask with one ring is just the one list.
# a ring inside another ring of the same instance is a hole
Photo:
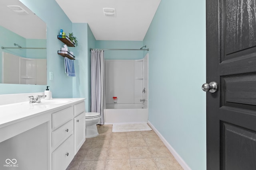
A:
{"label": "teal left wall around the mirror, behind the two small shelves", "polygon": [[[72,32],[72,22],[54,0],[34,1],[20,0],[47,25],[47,85],[50,86],[54,98],[72,98],[73,82],[64,69],[64,57],[57,54],[63,43],[57,39],[60,29]],[[49,80],[49,72],[53,72],[53,80]],[[43,92],[44,85],[0,84],[0,94]]]}

